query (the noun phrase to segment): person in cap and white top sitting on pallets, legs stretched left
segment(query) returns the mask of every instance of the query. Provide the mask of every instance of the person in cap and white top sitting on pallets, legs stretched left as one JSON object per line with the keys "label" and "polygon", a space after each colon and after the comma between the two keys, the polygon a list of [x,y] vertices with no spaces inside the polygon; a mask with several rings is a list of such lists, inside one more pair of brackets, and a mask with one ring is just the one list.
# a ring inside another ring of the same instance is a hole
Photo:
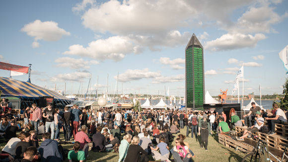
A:
{"label": "person in cap and white top sitting on pallets, legs stretched left", "polygon": [[255,123],[253,126],[247,128],[243,132],[243,136],[236,137],[237,140],[243,141],[245,137],[249,135],[249,133],[255,133],[260,130],[260,128],[264,125],[264,119],[261,117],[261,112],[257,111],[255,117]]}

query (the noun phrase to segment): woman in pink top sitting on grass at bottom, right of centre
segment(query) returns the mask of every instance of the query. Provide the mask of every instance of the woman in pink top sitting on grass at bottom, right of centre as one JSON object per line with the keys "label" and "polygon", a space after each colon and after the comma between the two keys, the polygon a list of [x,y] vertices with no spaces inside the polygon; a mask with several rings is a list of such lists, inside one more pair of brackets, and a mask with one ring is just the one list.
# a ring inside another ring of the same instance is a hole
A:
{"label": "woman in pink top sitting on grass at bottom, right of centre", "polygon": [[[176,146],[173,148],[173,153],[176,153],[180,156],[180,158],[175,159],[175,162],[191,162],[192,161],[192,156],[189,153],[189,148],[184,144],[183,140],[181,138],[177,138],[176,141]],[[174,155],[174,154],[173,154]]]}

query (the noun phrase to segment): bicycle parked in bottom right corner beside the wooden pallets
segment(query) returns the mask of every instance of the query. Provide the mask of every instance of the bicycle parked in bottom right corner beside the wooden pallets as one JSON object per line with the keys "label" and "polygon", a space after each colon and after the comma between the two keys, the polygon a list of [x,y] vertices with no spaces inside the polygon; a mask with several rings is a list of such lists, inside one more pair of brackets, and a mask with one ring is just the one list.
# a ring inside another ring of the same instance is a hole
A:
{"label": "bicycle parked in bottom right corner beside the wooden pallets", "polygon": [[242,162],[272,162],[272,160],[270,159],[270,156],[272,156],[274,159],[277,160],[277,162],[285,162],[284,158],[286,157],[286,159],[288,160],[288,155],[286,155],[286,152],[288,151],[288,147],[287,145],[284,144],[280,144],[282,146],[285,147],[285,150],[283,152],[282,155],[282,159],[278,159],[275,155],[273,155],[271,152],[269,152],[268,150],[268,144],[267,142],[259,139],[257,136],[252,136],[252,138],[257,142],[256,147],[254,148],[254,150],[247,154]]}

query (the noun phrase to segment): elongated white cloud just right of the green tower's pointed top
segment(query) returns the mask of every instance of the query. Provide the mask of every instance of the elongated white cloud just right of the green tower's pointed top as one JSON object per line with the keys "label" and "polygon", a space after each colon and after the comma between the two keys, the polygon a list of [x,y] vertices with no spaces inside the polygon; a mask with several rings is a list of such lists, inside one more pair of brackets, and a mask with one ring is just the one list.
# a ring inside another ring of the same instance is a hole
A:
{"label": "elongated white cloud just right of the green tower's pointed top", "polygon": [[264,34],[245,35],[241,33],[227,33],[216,40],[208,41],[205,47],[211,51],[234,50],[246,47],[255,47],[258,41],[265,39]]}

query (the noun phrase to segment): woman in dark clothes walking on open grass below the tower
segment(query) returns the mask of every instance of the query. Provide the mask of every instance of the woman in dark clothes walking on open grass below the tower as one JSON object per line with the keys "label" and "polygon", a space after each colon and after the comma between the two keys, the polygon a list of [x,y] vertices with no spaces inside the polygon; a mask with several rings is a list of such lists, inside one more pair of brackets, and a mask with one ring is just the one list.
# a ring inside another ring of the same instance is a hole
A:
{"label": "woman in dark clothes walking on open grass below the tower", "polygon": [[201,148],[204,146],[205,150],[208,151],[208,136],[209,133],[213,134],[210,129],[210,123],[207,121],[207,114],[203,115],[203,118],[200,119],[199,125],[198,125],[198,135],[201,135]]}

